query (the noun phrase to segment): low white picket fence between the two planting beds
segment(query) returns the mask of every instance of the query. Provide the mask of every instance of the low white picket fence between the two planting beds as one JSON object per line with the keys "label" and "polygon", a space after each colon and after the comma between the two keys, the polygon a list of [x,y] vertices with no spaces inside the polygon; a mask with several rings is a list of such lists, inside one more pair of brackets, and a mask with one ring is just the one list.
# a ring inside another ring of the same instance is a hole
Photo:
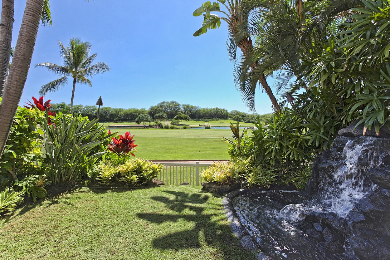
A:
{"label": "low white picket fence between the two planting beds", "polygon": [[190,185],[199,186],[203,182],[200,172],[207,169],[210,162],[158,162],[164,166],[159,173],[158,179],[165,182],[165,185],[180,185],[188,182]]}

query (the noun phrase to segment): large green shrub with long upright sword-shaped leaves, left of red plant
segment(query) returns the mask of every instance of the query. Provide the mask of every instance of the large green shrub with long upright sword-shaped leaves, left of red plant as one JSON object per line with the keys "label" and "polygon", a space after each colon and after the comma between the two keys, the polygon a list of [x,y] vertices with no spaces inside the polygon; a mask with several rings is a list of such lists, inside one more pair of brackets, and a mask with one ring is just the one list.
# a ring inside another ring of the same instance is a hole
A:
{"label": "large green shrub with long upright sword-shaped leaves, left of red plant", "polygon": [[89,121],[81,116],[58,114],[49,125],[43,125],[43,147],[46,151],[45,163],[47,176],[56,184],[59,182],[78,181],[87,176],[89,169],[106,151],[101,145],[107,144],[108,134],[97,119]]}

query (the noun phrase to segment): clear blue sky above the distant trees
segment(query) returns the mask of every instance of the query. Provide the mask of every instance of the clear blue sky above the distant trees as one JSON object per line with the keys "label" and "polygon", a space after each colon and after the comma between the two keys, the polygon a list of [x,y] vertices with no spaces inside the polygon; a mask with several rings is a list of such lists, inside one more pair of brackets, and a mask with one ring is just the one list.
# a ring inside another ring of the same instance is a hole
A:
{"label": "clear blue sky above the distant trees", "polygon": [[[236,90],[234,64],[226,48],[227,25],[194,37],[202,17],[192,12],[204,0],[51,0],[53,27],[40,26],[23,105],[40,87],[58,76],[35,64],[62,64],[58,40],[67,45],[72,37],[92,44],[96,62],[106,62],[109,73],[91,78],[92,88],[76,84],[74,104],[94,105],[102,96],[104,106],[147,108],[162,101],[200,107],[221,107],[250,112]],[[12,46],[20,28],[24,1],[15,2]],[[70,103],[72,80],[45,101]],[[269,82],[270,84],[272,82]],[[271,102],[257,89],[255,109],[271,112]]]}

